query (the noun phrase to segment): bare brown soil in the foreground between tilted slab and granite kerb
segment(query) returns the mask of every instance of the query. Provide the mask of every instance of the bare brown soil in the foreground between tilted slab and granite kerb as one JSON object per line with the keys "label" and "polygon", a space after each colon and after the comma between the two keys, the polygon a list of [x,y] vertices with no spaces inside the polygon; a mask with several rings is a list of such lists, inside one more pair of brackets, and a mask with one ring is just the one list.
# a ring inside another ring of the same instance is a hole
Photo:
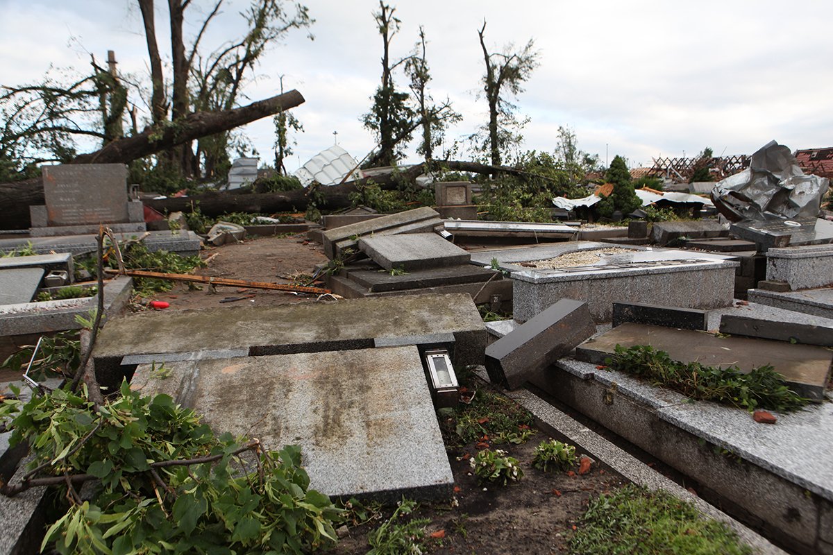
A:
{"label": "bare brown soil in the foreground between tilted slab and granite kerb", "polygon": [[[579,475],[532,467],[536,445],[548,439],[538,431],[525,444],[496,446],[520,462],[524,477],[517,483],[481,483],[471,472],[466,455],[477,453],[475,442],[451,448],[448,459],[454,473],[454,503],[422,504],[413,518],[430,518],[428,533],[444,531],[445,537],[431,538],[426,553],[564,553],[566,543],[591,496],[606,493],[627,483],[620,474],[594,463],[589,473]],[[577,470],[577,468],[576,468]],[[383,518],[391,514],[388,510]],[[332,553],[367,553],[367,533],[381,523],[377,520],[351,528]]]}

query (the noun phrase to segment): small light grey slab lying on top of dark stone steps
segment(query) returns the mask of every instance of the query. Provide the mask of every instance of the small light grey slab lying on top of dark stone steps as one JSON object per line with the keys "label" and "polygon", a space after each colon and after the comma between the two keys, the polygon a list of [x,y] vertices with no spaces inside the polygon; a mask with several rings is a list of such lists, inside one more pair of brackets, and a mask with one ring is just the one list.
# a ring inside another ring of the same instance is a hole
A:
{"label": "small light grey slab lying on top of dark stone steps", "polygon": [[471,256],[436,233],[363,237],[359,250],[385,270],[431,270],[468,264]]}

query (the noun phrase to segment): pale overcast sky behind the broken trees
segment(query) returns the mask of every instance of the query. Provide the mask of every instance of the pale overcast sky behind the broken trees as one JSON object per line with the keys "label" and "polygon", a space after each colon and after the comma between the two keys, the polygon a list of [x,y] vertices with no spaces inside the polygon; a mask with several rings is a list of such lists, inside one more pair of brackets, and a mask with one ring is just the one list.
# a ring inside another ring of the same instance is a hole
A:
{"label": "pale overcast sky behind the broken trees", "polygon": [[[212,2],[193,0],[187,32]],[[382,41],[373,0],[309,0],[316,22],[293,32],[262,57],[252,100],[297,88],[307,99],[294,110],[294,171],[337,141],[357,159],[375,141],[359,121],[380,79]],[[157,27],[167,27],[157,2]],[[213,49],[241,32],[247,2],[227,0],[202,45]],[[558,126],[575,131],[583,151],[626,156],[650,166],[656,156],[695,155],[711,146],[751,154],[775,139],[791,149],[833,146],[833,22],[830,0],[586,0],[583,2],[409,0],[392,2],[402,28],[392,56],[403,57],[425,27],[431,93],[450,97],[463,121],[446,142],[462,139],[486,118],[483,60],[477,29],[484,19],[493,50],[535,39],[541,65],[516,99],[531,118],[525,149],[552,151]],[[167,37],[158,37],[162,52]],[[147,50],[135,2],[128,0],[0,0],[0,84],[37,81],[52,64],[86,72],[90,53],[102,62],[116,51],[119,69],[147,76]],[[168,56],[169,57],[169,56]],[[397,77],[406,87],[406,79]],[[139,99],[143,113],[145,106]],[[263,161],[273,160],[270,119],[247,126]],[[409,158],[416,160],[413,149]]]}

